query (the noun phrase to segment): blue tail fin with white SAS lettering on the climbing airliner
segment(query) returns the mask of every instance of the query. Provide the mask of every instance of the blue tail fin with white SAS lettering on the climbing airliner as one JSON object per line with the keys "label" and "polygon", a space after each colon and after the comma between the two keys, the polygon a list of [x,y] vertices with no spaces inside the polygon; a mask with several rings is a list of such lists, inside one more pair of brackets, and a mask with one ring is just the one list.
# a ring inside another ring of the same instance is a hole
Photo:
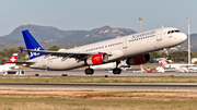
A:
{"label": "blue tail fin with white SAS lettering on the climbing airliner", "polygon": [[[22,34],[23,34],[23,38],[24,38],[24,41],[25,41],[25,45],[26,45],[26,49],[44,50],[27,29],[23,30]],[[43,56],[43,54],[39,54],[39,53],[36,53],[36,52],[28,52],[30,59],[34,59],[34,58],[37,58],[37,57],[40,57],[40,56]]]}

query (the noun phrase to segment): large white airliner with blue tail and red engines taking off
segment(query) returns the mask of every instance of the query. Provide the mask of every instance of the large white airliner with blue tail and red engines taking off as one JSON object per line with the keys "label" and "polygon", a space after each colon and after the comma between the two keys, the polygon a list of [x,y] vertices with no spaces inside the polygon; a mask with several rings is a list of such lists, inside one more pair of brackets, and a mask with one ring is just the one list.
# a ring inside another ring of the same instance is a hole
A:
{"label": "large white airliner with blue tail and red engines taking off", "polygon": [[111,62],[117,62],[113,73],[120,74],[121,70],[117,66],[120,60],[126,60],[128,65],[147,63],[150,60],[148,52],[162,49],[167,51],[169,48],[181,45],[187,39],[187,36],[177,28],[162,27],[62,51],[47,51],[27,29],[22,30],[22,34],[26,45],[24,51],[27,51],[30,57],[26,66],[61,71],[89,66],[84,70],[86,75],[94,73],[90,65]]}

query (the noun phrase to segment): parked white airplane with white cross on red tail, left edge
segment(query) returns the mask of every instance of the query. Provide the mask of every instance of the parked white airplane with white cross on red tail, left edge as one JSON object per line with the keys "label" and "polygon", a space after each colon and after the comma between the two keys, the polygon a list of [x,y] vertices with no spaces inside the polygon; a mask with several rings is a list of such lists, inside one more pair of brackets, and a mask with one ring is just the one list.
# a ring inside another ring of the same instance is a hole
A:
{"label": "parked white airplane with white cross on red tail, left edge", "polygon": [[13,53],[12,57],[8,60],[8,62],[3,65],[0,65],[0,72],[7,72],[10,70],[19,69],[14,62],[18,60],[18,53]]}

